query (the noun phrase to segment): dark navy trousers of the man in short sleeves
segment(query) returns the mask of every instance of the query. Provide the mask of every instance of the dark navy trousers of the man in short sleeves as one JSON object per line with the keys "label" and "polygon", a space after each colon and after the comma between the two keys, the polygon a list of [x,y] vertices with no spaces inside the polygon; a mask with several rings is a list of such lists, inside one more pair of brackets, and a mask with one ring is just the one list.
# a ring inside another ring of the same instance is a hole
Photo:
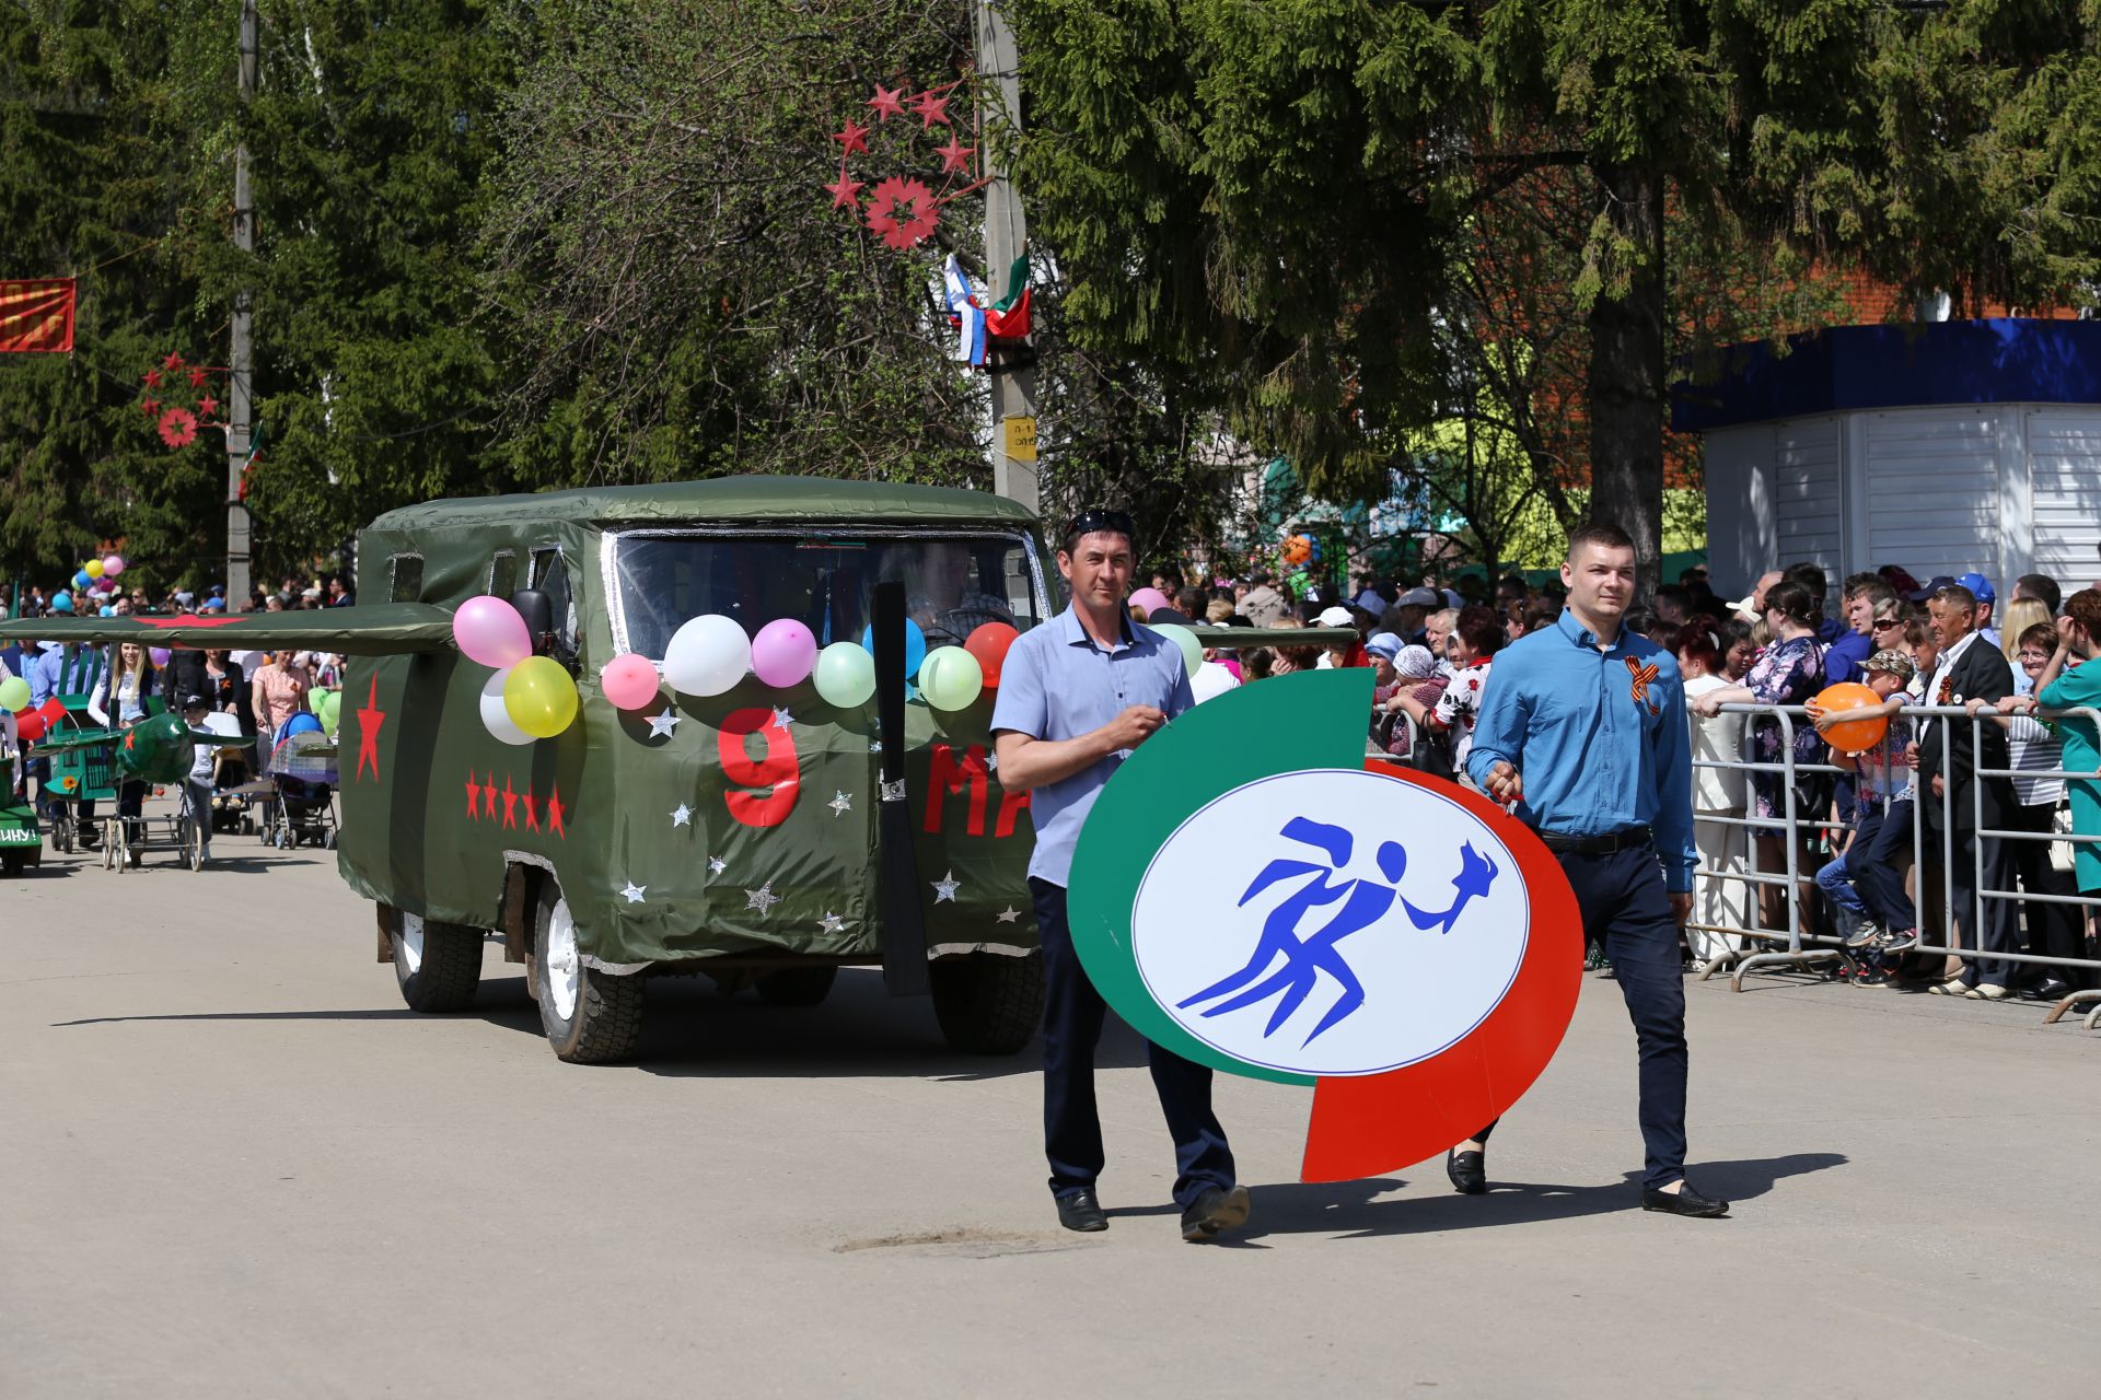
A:
{"label": "dark navy trousers of the man in short sleeves", "polygon": [[[1101,1115],[1095,1108],[1095,1045],[1107,1003],[1086,980],[1065,921],[1065,886],[1029,877],[1044,945],[1044,1157],[1050,1194],[1093,1190],[1101,1175]],[[1189,1209],[1208,1188],[1233,1186],[1233,1150],[1210,1110],[1210,1068],[1147,1043],[1153,1089],[1174,1138],[1174,1205]]]}

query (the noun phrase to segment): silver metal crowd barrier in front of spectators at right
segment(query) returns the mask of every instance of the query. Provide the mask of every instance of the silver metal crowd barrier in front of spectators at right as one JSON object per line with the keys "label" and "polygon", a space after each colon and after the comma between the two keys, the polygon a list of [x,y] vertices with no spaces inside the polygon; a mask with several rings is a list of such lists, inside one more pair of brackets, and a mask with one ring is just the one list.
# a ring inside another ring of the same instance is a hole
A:
{"label": "silver metal crowd barrier in front of spectators at right", "polygon": [[[1847,968],[1855,968],[1857,966],[1855,953],[1851,949],[1847,949],[1840,938],[1832,938],[1832,936],[1826,936],[1826,934],[1807,932],[1807,921],[1803,917],[1805,915],[1803,884],[1805,884],[1807,877],[1805,877],[1805,873],[1801,869],[1801,852],[1803,852],[1803,846],[1805,846],[1805,835],[1811,833],[1811,831],[1845,829],[1851,823],[1834,821],[1826,812],[1813,812],[1813,814],[1798,812],[1796,810],[1796,806],[1798,806],[1796,779],[1801,775],[1805,775],[1805,772],[1840,775],[1843,770],[1836,764],[1828,764],[1828,762],[1826,764],[1798,764],[1794,760],[1794,737],[1798,733],[1798,724],[1809,724],[1809,718],[1807,718],[1803,705],[1723,705],[1721,709],[1723,709],[1723,714],[1740,714],[1740,716],[1746,718],[1742,754],[1735,760],[1693,760],[1693,766],[1696,768],[1708,768],[1708,770],[1744,772],[1746,775],[1746,808],[1744,808],[1742,814],[1727,812],[1727,810],[1696,808],[1693,810],[1693,823],[1696,823],[1696,831],[1698,831],[1700,823],[1710,823],[1714,827],[1725,827],[1725,829],[1744,829],[1746,831],[1746,848],[1742,852],[1731,852],[1731,854],[1742,854],[1744,856],[1744,869],[1708,869],[1706,858],[1702,858],[1702,865],[1696,871],[1696,879],[1693,879],[1693,886],[1696,886],[1696,913],[1698,913],[1698,909],[1704,903],[1714,903],[1714,900],[1702,900],[1700,898],[1700,882],[1702,879],[1706,879],[1706,882],[1740,882],[1740,884],[1748,886],[1748,898],[1744,900],[1744,905],[1746,905],[1746,915],[1750,915],[1750,917],[1746,917],[1744,926],[1702,921],[1698,917],[1693,921],[1687,921],[1685,928],[1691,934],[1712,934],[1712,936],[1725,938],[1725,940],[1731,940],[1731,938],[1733,940],[1746,940],[1746,945],[1742,945],[1742,947],[1729,947],[1725,942],[1719,953],[1714,953],[1712,957],[1702,959],[1704,966],[1702,966],[1700,978],[1706,980],[1706,978],[1712,978],[1719,972],[1729,972],[1729,984],[1731,984],[1731,989],[1733,991],[1744,991],[1744,976],[1750,974],[1750,972],[1756,972],[1756,970],[1780,970],[1780,968],[1786,968],[1786,970],[1807,970],[1807,968],[1813,968],[1817,963],[1834,963],[1834,961],[1836,963],[1845,963]],[[1990,888],[1990,884],[1988,884],[1988,865],[1992,865],[2000,873],[2004,873],[2009,877],[2009,884],[2011,884],[2013,863],[2004,856],[2004,850],[2002,850],[2004,842],[2067,842],[2067,844],[2080,846],[2080,844],[2101,842],[2101,833],[2065,833],[2065,831],[2055,831],[2055,829],[2044,829],[2044,831],[2006,831],[2006,829],[1996,829],[1996,827],[1985,827],[1983,825],[1983,781],[1988,781],[1988,779],[1990,781],[2006,781],[2006,779],[2019,777],[2019,779],[2040,779],[2040,781],[2061,779],[2061,781],[2067,781],[2067,783],[2076,783],[2076,781],[2095,783],[2095,781],[2101,781],[2101,772],[2072,772],[2072,770],[2065,770],[2065,768],[1985,768],[1985,766],[1981,766],[1981,760],[1983,760],[1983,726],[1998,722],[2000,716],[1996,714],[1996,709],[1983,709],[1981,714],[1971,716],[1964,705],[1906,705],[1901,714],[1904,714],[1904,718],[1912,720],[1912,724],[1914,724],[1914,741],[1920,737],[1918,735],[1920,722],[1937,722],[1937,724],[1960,722],[1960,724],[1969,724],[1971,726],[1971,747],[1969,747],[1969,762],[1971,762],[1971,783],[1969,783],[1971,804],[1969,806],[1971,806],[1971,810],[1967,812],[1967,823],[1964,823],[1964,835],[1969,837],[1969,846],[1971,846],[1971,854],[1969,854],[1969,858],[1971,858],[1971,879],[1969,879],[1969,886],[1971,888],[1969,888],[1969,909],[1962,911],[1962,913],[1967,913],[1967,917],[1962,919],[1962,926],[1958,926],[1958,909],[1956,909],[1956,854],[1954,854],[1954,850],[1956,850],[1954,791],[1956,791],[1958,785],[1956,783],[1941,783],[1941,796],[1933,798],[1931,789],[1927,785],[1918,785],[1916,783],[1916,770],[1914,770],[1916,796],[1914,796],[1914,800],[1910,804],[1912,806],[1910,825],[1912,825],[1912,871],[1914,871],[1912,884],[1914,884],[1916,892],[1912,896],[1912,907],[1914,907],[1914,913],[1918,915],[1918,936],[1920,936],[1920,942],[1918,942],[1918,947],[1914,951],[1916,953],[1925,953],[1929,957],[1931,955],[1941,955],[1943,959],[1946,957],[1958,957],[1958,959],[1964,959],[1964,961],[1979,959],[1979,961],[1992,961],[1992,963],[2040,963],[2040,966],[2051,966],[2051,968],[2086,968],[2086,970],[2101,972],[2101,959],[2097,959],[2097,957],[2046,957],[2046,955],[2040,955],[2040,953],[2021,953],[2021,951],[2013,949],[2013,938],[2015,938],[2015,930],[2017,930],[2019,915],[2021,915],[2019,905],[2023,905],[2023,903],[2030,903],[2030,905],[2074,905],[2074,907],[2086,911],[2086,909],[2101,909],[2101,894],[2044,894],[2044,892],[1996,890],[1996,888]],[[2101,712],[2095,712],[2093,707],[2084,707],[2084,705],[2074,707],[2074,709],[2038,709],[2032,718],[2036,718],[2036,720],[2061,720],[2061,718],[2072,718],[2072,716],[2078,716],[2078,718],[2095,724],[2097,730],[2101,730]],[[1750,756],[1752,749],[1754,749],[1754,730],[1756,730],[1756,720],[1759,718],[1771,718],[1771,720],[1777,720],[1777,724],[1780,724],[1780,741],[1782,741],[1782,745],[1780,745],[1780,762],[1761,762],[1761,760],[1756,760],[1756,758]],[[2021,718],[2030,718],[2030,716],[2021,716]],[[1889,739],[1882,741],[1880,754],[1887,756],[1887,758],[1891,758],[1895,762],[1895,768],[1899,772],[1906,768],[1904,754],[1897,751],[1895,745]],[[1943,745],[1943,754],[1952,756],[1952,745]],[[1763,816],[1754,816],[1752,814],[1756,810],[1752,806],[1752,802],[1750,802],[1750,777],[1748,775],[1752,775],[1752,772],[1780,775],[1780,789],[1782,789],[1782,798],[1784,798],[1784,814],[1782,816],[1777,816],[1777,819],[1763,819]],[[1941,873],[1941,890],[1939,890],[1941,892],[1941,900],[1939,900],[1939,909],[1937,911],[1929,909],[1929,900],[1927,900],[1927,894],[1929,894],[1929,890],[1927,890],[1927,871],[1929,871],[1929,865],[1927,865],[1927,858],[1925,858],[1927,856],[1927,850],[1925,850],[1927,823],[1920,819],[1922,812],[1925,812],[1925,804],[1933,802],[1933,800],[1937,800],[1941,804],[1941,823],[1939,823],[1939,831],[1941,831],[1941,852],[1939,852],[1939,856],[1941,858],[1937,863],[1939,865],[1939,873]],[[2069,789],[2067,789],[2067,793],[2063,798],[2059,798],[2059,804],[2063,804],[2067,800],[2069,800]],[[1889,812],[1891,806],[1897,806],[1897,802],[1893,802],[1889,796],[1885,796],[1882,798],[1885,812]],[[1756,840],[1752,837],[1752,833],[1767,833],[1767,831],[1780,831],[1782,833],[1782,846],[1784,846],[1784,852],[1786,852],[1784,869],[1782,871],[1767,871],[1767,869],[1759,867]],[[1761,900],[1756,898],[1756,892],[1763,886],[1775,886],[1775,884],[1786,890],[1788,928],[1784,928],[1784,930],[1765,928],[1761,924],[1763,913],[1759,911]],[[2006,924],[2004,924],[2004,934],[2006,934],[2004,942],[2009,947],[2002,947],[2002,949],[1988,949],[1988,947],[1983,947],[1985,909],[1988,909],[1988,905],[1992,900],[2015,905],[2004,915],[2006,917]],[[1939,915],[1937,921],[1931,917],[1933,913]],[[1933,942],[1931,938],[1937,938],[1937,942]],[[2080,1005],[2086,1005],[2086,1003],[2095,1003],[2093,1010],[2086,1014],[2086,1028],[2093,1031],[2093,1028],[2101,1026],[2101,989],[2076,989],[2069,995],[2061,997],[2051,1007],[2051,1012],[2044,1016],[2044,1024],[2051,1024],[2051,1022],[2059,1020],[2061,1016],[2065,1016],[2067,1012],[2072,1012],[2072,1010],[2076,1010]]]}

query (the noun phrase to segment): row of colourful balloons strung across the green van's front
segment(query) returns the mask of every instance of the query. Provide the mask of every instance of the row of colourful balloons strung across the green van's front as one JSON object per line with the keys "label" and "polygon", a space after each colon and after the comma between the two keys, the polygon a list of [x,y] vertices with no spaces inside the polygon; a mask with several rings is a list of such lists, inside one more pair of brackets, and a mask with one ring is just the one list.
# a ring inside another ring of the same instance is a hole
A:
{"label": "row of colourful balloons strung across the green van's front", "polygon": [[[1004,621],[977,628],[962,646],[927,649],[927,634],[906,619],[906,678],[935,709],[966,709],[985,686],[1000,684],[1000,663],[1019,632]],[[809,680],[834,709],[866,705],[876,693],[874,628],[859,642],[817,646],[815,634],[777,617],[746,636],[735,617],[708,613],[681,625],[664,646],[664,680],[681,695],[723,695],[746,676],[775,691]],[[643,655],[613,657],[599,674],[605,699],[620,709],[645,709],[658,697],[658,667]]]}

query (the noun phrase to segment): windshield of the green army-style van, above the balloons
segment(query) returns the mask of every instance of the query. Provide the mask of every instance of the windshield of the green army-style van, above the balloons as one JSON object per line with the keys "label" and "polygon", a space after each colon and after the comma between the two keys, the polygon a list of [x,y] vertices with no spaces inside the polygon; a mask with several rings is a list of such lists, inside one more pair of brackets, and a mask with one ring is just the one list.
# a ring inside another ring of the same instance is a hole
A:
{"label": "windshield of the green army-style van, above the balloons", "polygon": [[893,579],[927,646],[960,646],[987,621],[1021,632],[1042,621],[1029,544],[1002,535],[624,533],[613,577],[626,649],[651,661],[704,613],[735,617],[746,634],[794,617],[819,646],[857,642],[874,586]]}

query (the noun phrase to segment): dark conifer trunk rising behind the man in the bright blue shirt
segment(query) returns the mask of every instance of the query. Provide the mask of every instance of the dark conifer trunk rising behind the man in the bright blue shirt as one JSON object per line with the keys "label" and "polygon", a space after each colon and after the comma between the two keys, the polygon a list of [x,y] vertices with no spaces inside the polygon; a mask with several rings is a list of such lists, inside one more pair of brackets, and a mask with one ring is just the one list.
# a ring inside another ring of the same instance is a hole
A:
{"label": "dark conifer trunk rising behind the man in the bright blue shirt", "polygon": [[1597,178],[1635,254],[1626,294],[1590,306],[1590,518],[1635,537],[1635,594],[1651,598],[1664,548],[1664,174],[1601,166]]}

